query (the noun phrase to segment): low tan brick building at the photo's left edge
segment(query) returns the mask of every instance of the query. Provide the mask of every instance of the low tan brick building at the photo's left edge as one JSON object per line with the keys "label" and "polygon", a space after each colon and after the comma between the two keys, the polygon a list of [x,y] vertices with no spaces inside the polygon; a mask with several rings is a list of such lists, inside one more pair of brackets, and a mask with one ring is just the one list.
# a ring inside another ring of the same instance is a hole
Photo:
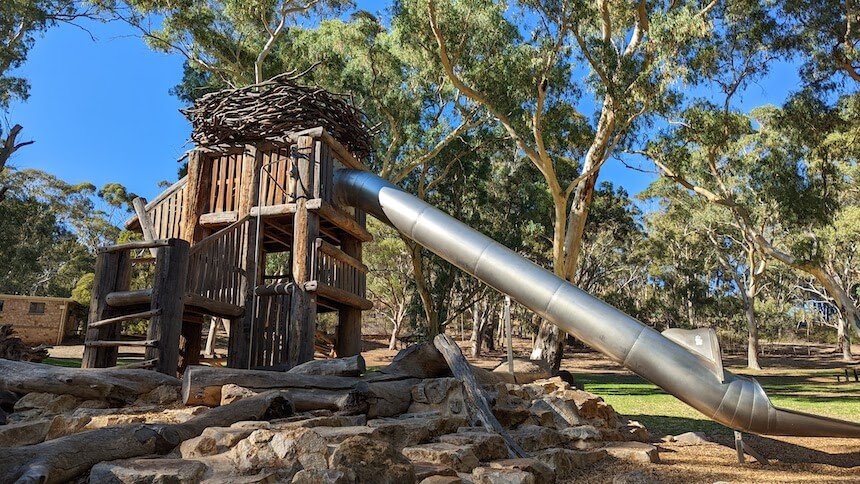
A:
{"label": "low tan brick building at the photo's left edge", "polygon": [[0,324],[11,324],[24,343],[58,345],[76,329],[74,304],[63,297],[0,294]]}

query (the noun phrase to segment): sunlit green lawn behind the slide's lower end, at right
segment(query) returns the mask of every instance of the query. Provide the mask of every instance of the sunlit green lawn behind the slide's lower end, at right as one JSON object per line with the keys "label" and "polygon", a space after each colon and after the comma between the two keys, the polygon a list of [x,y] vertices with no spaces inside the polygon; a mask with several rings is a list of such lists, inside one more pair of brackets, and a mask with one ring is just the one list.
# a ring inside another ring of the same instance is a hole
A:
{"label": "sunlit green lawn behind the slide's lower end, at right", "polygon": [[[657,437],[701,431],[730,435],[731,430],[635,375],[577,374],[585,390],[600,395],[616,411],[642,422]],[[797,370],[792,375],[756,375],[777,407],[860,421],[860,383],[836,383],[833,370]]]}

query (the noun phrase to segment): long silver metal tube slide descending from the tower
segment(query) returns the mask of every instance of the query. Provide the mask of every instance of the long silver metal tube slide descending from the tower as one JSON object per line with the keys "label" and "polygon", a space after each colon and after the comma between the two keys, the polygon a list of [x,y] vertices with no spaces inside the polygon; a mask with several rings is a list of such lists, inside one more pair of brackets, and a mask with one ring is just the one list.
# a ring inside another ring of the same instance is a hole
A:
{"label": "long silver metal tube slide descending from the tower", "polygon": [[339,170],[338,202],[360,208],[732,429],[860,438],[860,424],[776,408],[724,371],[713,330],[661,334],[371,173]]}

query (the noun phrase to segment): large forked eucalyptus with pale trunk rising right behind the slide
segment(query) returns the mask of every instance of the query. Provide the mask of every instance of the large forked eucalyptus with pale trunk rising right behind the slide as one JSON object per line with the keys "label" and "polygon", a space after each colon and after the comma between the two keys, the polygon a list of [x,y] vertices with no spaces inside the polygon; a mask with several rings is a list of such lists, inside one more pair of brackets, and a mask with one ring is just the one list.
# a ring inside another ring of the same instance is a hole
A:
{"label": "large forked eucalyptus with pale trunk rising right behind the slide", "polygon": [[[671,101],[715,4],[403,0],[394,24],[544,178],[552,267],[570,280],[601,167]],[[544,325],[532,357],[558,368],[562,342]]]}

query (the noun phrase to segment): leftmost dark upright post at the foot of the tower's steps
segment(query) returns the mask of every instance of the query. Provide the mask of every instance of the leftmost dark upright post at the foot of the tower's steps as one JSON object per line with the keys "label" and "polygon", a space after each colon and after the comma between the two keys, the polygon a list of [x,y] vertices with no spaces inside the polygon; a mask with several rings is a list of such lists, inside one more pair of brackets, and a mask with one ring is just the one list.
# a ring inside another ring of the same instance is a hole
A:
{"label": "leftmost dark upright post at the foot of the tower's steps", "polygon": [[[126,291],[131,278],[131,252],[100,252],[96,259],[95,282],[90,299],[89,321],[101,321],[118,316],[120,311],[108,306],[107,295]],[[120,325],[109,324],[97,328],[87,327],[85,341],[119,339]],[[81,368],[107,368],[116,365],[118,348],[84,346]]]}

